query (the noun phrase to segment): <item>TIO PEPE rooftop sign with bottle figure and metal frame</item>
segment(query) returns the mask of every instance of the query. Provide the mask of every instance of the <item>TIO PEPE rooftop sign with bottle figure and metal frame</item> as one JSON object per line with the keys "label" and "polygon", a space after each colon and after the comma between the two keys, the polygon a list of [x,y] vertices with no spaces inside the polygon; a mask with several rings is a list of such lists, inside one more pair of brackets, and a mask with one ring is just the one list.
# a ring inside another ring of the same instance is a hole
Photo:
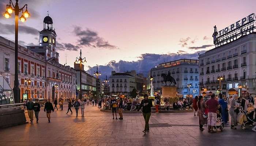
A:
{"label": "TIO PEPE rooftop sign with bottle figure and metal frame", "polygon": [[220,31],[217,31],[217,27],[214,26],[214,33],[212,34],[214,45],[217,47],[253,32],[256,28],[255,20],[256,17],[253,13]]}

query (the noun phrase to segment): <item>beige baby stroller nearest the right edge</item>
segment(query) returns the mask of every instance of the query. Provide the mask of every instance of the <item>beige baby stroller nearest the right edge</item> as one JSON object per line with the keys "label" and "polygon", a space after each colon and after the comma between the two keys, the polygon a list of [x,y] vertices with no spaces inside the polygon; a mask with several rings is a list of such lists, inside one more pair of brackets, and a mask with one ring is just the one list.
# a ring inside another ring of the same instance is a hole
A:
{"label": "beige baby stroller nearest the right edge", "polygon": [[241,108],[239,108],[239,113],[237,114],[236,120],[237,120],[237,123],[241,124],[241,128],[243,130],[245,129],[245,125],[252,125],[254,122],[252,119],[248,117],[247,113]]}

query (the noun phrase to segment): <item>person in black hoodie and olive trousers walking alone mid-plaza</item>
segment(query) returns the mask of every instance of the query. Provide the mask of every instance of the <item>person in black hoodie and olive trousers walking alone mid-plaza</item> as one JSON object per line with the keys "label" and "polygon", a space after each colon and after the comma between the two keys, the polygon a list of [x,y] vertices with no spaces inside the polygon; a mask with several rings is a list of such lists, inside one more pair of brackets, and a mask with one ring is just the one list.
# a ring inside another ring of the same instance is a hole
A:
{"label": "person in black hoodie and olive trousers walking alone mid-plaza", "polygon": [[145,120],[145,128],[142,132],[146,134],[146,131],[149,131],[148,121],[149,121],[149,118],[151,116],[151,107],[153,107],[153,104],[152,104],[152,101],[150,99],[148,99],[147,94],[144,94],[143,97],[144,97],[144,99],[141,101],[137,112],[140,111],[140,108],[143,107],[142,108],[142,115],[143,115],[144,120]]}

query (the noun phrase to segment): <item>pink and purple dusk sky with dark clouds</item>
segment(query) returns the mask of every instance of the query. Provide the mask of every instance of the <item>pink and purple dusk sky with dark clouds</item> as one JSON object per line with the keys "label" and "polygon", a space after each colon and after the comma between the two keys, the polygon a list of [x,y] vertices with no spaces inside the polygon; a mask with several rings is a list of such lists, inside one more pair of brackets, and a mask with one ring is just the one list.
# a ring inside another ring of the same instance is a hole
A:
{"label": "pink and purple dusk sky with dark clouds", "polygon": [[[15,0],[13,0],[15,3]],[[5,12],[9,0],[0,0]],[[147,72],[167,61],[197,59],[213,49],[218,30],[255,13],[256,0],[19,0],[31,17],[19,21],[19,45],[39,44],[43,20],[53,19],[60,63],[73,67],[75,57],[86,57],[88,73]],[[20,13],[21,15],[21,13]],[[0,36],[14,41],[15,15],[0,17]]]}

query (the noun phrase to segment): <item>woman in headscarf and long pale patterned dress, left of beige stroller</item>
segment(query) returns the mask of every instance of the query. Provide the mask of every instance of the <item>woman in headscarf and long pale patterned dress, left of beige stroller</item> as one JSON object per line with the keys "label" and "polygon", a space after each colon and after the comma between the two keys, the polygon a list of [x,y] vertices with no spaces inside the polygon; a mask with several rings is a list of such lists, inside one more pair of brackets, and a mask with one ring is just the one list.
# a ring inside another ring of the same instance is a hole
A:
{"label": "woman in headscarf and long pale patterned dress, left of beige stroller", "polygon": [[229,114],[231,116],[231,127],[230,127],[231,129],[237,129],[236,128],[237,111],[238,111],[238,108],[240,108],[240,105],[237,103],[237,99],[238,99],[237,94],[234,94],[233,100],[230,103]]}

